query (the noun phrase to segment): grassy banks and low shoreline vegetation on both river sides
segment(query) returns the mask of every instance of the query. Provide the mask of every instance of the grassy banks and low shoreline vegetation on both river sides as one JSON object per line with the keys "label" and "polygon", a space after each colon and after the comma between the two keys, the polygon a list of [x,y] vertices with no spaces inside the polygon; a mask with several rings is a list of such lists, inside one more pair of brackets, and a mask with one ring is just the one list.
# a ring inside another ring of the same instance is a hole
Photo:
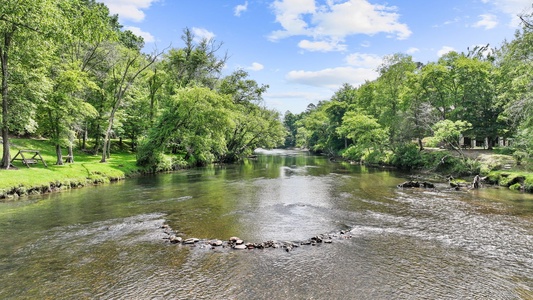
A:
{"label": "grassy banks and low shoreline vegetation on both river sides", "polygon": [[[46,194],[72,188],[106,184],[124,180],[127,177],[154,173],[153,170],[142,168],[136,163],[136,154],[130,152],[128,142],[113,141],[113,155],[106,163],[100,162],[100,155],[85,151],[74,151],[74,163],[55,165],[55,149],[53,144],[45,139],[13,138],[10,140],[14,153],[19,150],[36,150],[47,163],[45,167],[36,162],[30,168],[21,161],[13,162],[15,168],[0,171],[0,201],[16,200],[29,195]],[[414,176],[427,176],[445,180],[446,176],[453,176],[450,185],[468,186],[470,177],[475,175],[461,172],[458,164],[475,164],[484,178],[485,185],[493,185],[510,190],[533,192],[533,171],[528,161],[517,161],[511,155],[498,154],[497,150],[468,150],[465,151],[468,160],[458,159],[451,151],[442,149],[426,149],[421,152],[426,165],[411,169]],[[440,161],[438,161],[440,160]],[[360,162],[357,162],[360,163]],[[433,164],[433,165],[431,165]],[[367,164],[383,167],[381,164]],[[180,165],[179,169],[187,168]],[[393,165],[387,167],[395,168]],[[463,166],[464,167],[464,166]],[[177,168],[172,167],[172,171]],[[477,175],[477,174],[476,174]],[[435,179],[434,179],[435,180]]]}

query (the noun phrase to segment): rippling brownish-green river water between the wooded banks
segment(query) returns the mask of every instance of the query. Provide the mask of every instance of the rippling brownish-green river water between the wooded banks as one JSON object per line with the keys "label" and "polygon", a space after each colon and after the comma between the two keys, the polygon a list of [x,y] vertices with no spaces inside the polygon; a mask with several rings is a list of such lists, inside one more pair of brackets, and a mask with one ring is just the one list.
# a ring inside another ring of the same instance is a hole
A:
{"label": "rippling brownish-green river water between the wooded banks", "polygon": [[0,299],[533,299],[531,195],[407,179],[272,151],[0,203]]}

